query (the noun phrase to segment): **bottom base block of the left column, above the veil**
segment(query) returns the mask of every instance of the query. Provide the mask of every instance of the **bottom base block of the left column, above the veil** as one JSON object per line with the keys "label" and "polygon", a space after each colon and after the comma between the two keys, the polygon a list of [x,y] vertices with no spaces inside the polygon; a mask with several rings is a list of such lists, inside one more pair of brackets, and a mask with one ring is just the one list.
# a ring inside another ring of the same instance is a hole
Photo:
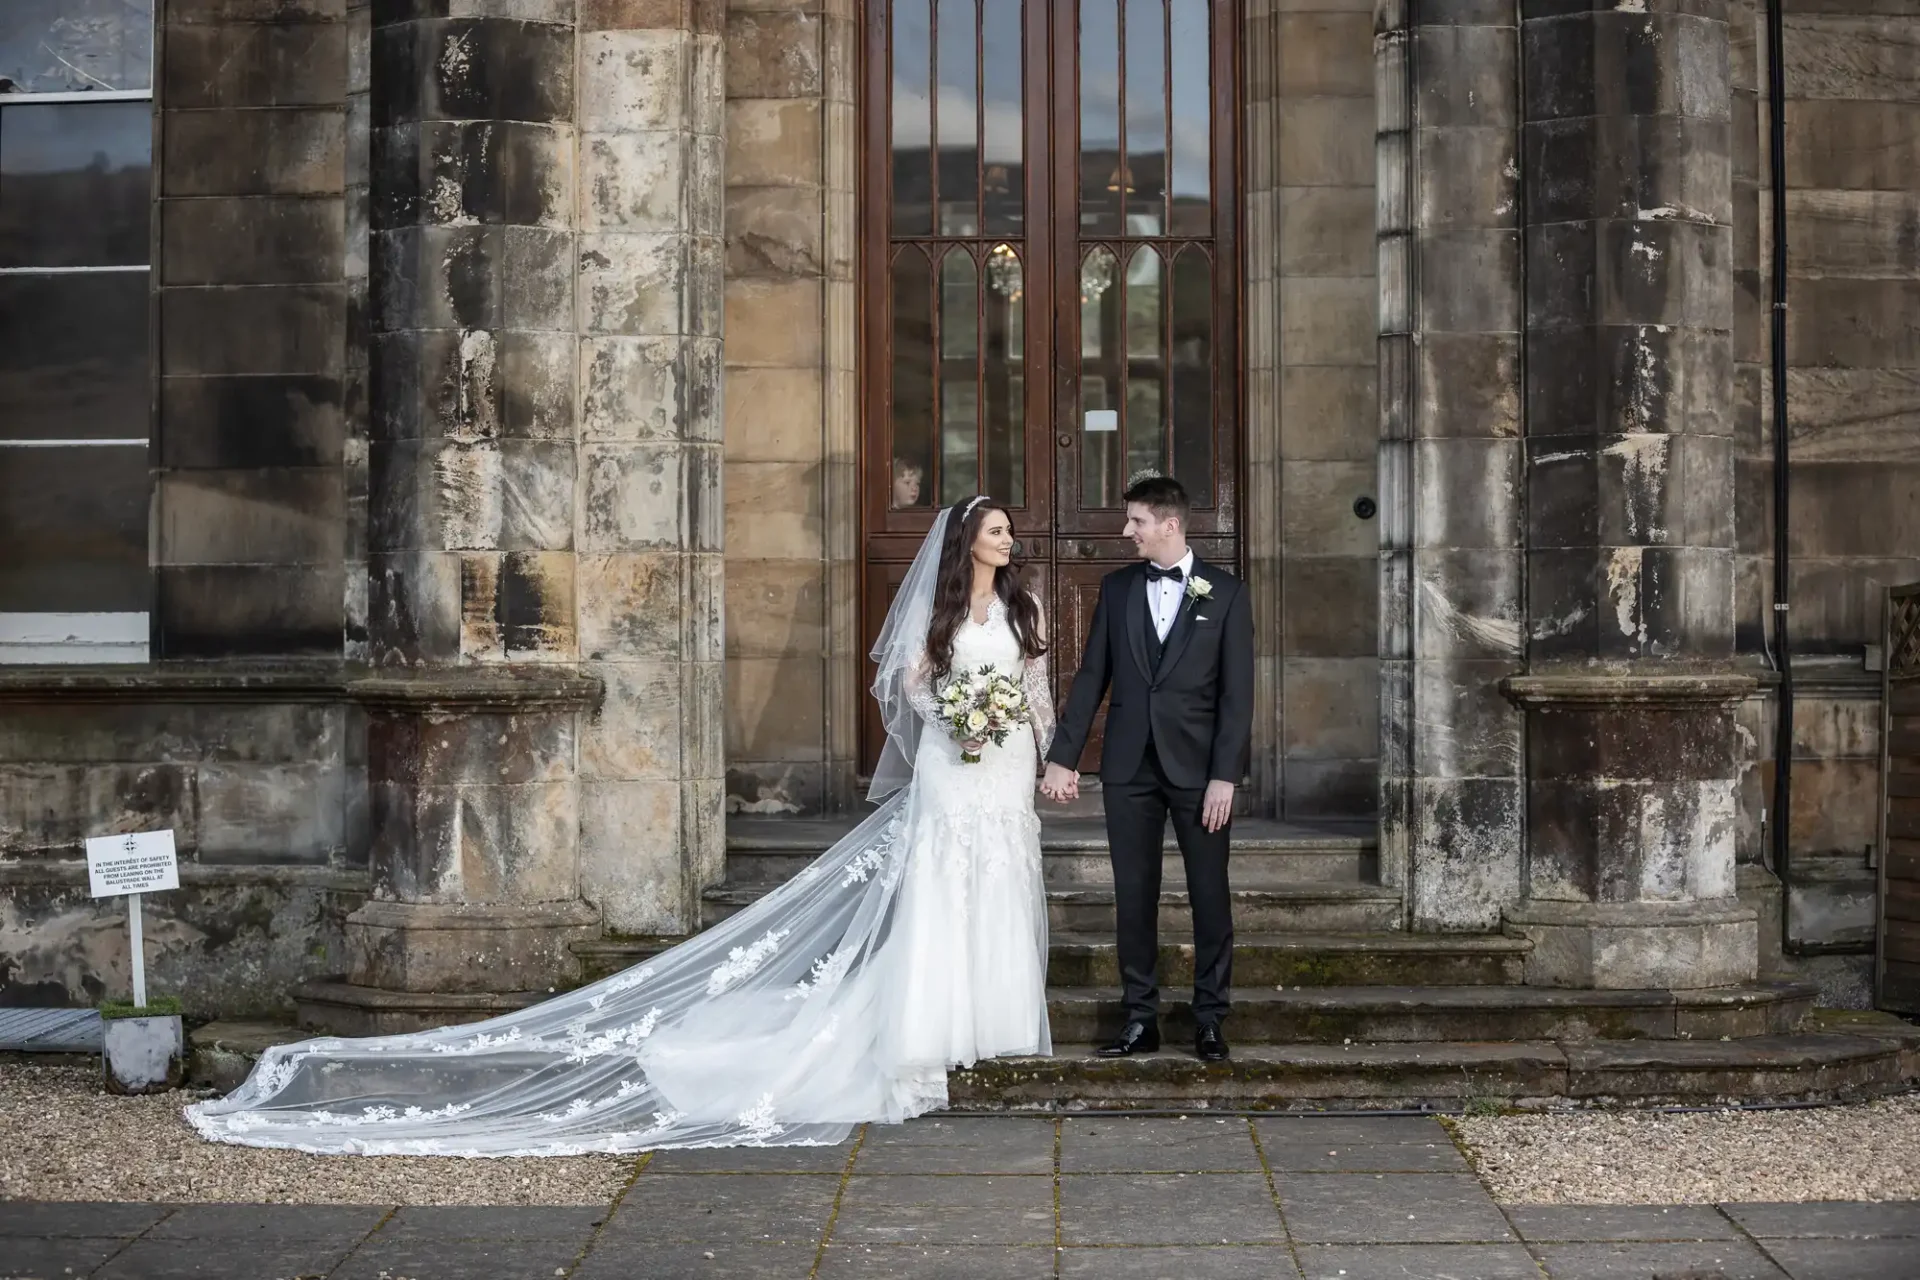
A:
{"label": "bottom base block of the left column, above the veil", "polygon": [[599,936],[586,902],[369,902],[346,919],[348,981],[388,992],[492,994],[570,986],[572,944]]}

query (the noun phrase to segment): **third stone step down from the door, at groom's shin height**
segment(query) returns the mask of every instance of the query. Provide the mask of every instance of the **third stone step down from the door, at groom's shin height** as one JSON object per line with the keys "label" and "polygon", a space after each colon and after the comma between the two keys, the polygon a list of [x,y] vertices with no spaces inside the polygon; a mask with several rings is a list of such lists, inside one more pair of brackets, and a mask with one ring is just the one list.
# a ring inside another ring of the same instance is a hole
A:
{"label": "third stone step down from the door, at groom's shin height", "polygon": [[[682,938],[591,938],[574,944],[584,981],[593,983],[657,956]],[[1409,986],[1521,981],[1530,942],[1501,935],[1421,933],[1238,933],[1233,975],[1242,986]],[[1112,929],[1054,935],[1046,979],[1054,986],[1117,986]],[[1192,983],[1192,942],[1160,944],[1167,986]]]}

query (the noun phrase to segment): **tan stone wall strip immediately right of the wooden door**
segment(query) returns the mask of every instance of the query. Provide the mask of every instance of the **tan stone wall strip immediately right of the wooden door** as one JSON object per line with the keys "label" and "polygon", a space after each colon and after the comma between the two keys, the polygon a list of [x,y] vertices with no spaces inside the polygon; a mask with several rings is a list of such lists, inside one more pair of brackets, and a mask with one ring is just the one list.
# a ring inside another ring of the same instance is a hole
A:
{"label": "tan stone wall strip immediately right of the wooden door", "polygon": [[[1281,814],[1369,818],[1379,777],[1379,522],[1375,388],[1373,4],[1275,4],[1265,54],[1273,84],[1279,432],[1273,545],[1281,654]],[[1250,29],[1250,33],[1258,31]],[[1252,244],[1252,242],[1250,242]]]}

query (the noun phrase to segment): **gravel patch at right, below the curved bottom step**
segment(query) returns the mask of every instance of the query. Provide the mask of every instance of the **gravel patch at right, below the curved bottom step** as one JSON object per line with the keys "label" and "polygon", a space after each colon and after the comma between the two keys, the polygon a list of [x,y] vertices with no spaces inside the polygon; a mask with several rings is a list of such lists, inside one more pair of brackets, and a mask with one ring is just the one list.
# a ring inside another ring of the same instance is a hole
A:
{"label": "gravel patch at right, below the curved bottom step", "polygon": [[1511,1205],[1920,1199],[1920,1094],[1855,1107],[1452,1125],[1494,1199]]}

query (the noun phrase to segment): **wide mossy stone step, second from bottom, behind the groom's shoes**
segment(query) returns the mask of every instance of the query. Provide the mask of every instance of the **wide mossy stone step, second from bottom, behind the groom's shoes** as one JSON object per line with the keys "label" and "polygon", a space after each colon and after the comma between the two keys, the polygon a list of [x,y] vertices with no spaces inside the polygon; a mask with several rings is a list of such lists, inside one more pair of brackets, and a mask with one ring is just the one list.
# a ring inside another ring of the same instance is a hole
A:
{"label": "wide mossy stone step, second from bottom, behind the groom's shoes", "polygon": [[[1709,990],[1561,990],[1551,986],[1236,986],[1227,1038],[1240,1044],[1404,1040],[1718,1040],[1793,1031],[1812,1009],[1811,983]],[[1054,1040],[1108,1040],[1125,1023],[1117,988],[1046,992]],[[1192,1036],[1188,992],[1162,984],[1160,1031]]]}

